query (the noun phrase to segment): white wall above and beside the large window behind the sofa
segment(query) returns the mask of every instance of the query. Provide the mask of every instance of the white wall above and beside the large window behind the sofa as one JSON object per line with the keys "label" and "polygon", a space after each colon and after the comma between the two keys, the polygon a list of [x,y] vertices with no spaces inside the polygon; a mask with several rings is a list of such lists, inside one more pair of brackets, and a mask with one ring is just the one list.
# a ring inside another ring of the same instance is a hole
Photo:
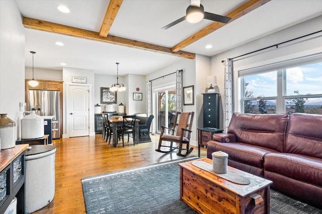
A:
{"label": "white wall above and beside the large window behind the sofa", "polygon": [[[271,45],[285,42],[300,36],[304,36],[306,34],[320,31],[322,26],[321,23],[322,16],[319,16],[312,20],[308,20],[306,22],[297,24],[290,28],[284,29],[282,31],[276,32],[274,34],[257,39],[253,42],[238,46],[236,48],[230,49],[226,52],[211,57],[211,74],[217,76],[219,91],[222,94],[221,98],[223,99],[224,94],[224,66],[223,63],[221,63],[221,60],[223,60],[224,58],[236,57]],[[262,51],[253,55],[237,58],[233,61],[234,80],[237,79],[238,70],[253,68],[261,65],[276,63],[284,60],[293,59],[296,57],[322,52],[321,44],[322,37],[316,37],[315,35],[313,36],[313,39],[308,40],[308,38],[304,38],[287,43],[285,45],[280,45],[277,49],[271,48],[269,50]],[[236,98],[236,92],[238,88],[236,83],[237,81],[235,81],[234,84],[234,88],[236,88],[234,90],[234,103],[239,102],[239,100]],[[237,105],[234,105],[234,111],[239,112],[236,106]]]}

